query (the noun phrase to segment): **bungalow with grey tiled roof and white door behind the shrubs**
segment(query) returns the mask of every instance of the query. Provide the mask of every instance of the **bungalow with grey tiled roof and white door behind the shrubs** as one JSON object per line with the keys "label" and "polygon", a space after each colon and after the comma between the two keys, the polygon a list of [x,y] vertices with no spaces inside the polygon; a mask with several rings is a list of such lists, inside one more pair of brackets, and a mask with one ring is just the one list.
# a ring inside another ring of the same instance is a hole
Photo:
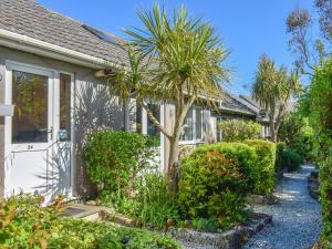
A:
{"label": "bungalow with grey tiled roof and white door behind the shrubs", "polygon": [[[1,0],[0,196],[21,190],[39,191],[48,199],[86,195],[90,183],[81,152],[86,135],[101,129],[160,137],[163,168],[166,139],[135,101],[121,104],[108,94],[106,80],[96,76],[101,70],[127,65],[123,43],[33,0]],[[222,117],[258,116],[231,95],[219,107],[212,112],[194,106],[181,143],[195,146],[220,139],[217,122]],[[174,105],[155,103],[154,113],[172,126]]]}

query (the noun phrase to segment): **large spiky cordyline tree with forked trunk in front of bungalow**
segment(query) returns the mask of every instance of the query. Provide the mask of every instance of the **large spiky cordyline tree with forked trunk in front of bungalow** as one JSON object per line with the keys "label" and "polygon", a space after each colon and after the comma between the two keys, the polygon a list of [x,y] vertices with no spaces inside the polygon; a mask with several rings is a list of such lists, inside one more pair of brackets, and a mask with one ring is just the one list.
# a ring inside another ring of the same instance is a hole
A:
{"label": "large spiky cordyline tree with forked trunk in front of bungalow", "polygon": [[[220,96],[220,82],[228,82],[229,71],[221,65],[228,58],[218,35],[208,22],[191,19],[185,7],[166,14],[158,4],[138,12],[143,29],[126,33],[129,65],[110,75],[110,90],[121,100],[136,98],[154,125],[169,142],[167,176],[177,189],[179,148],[184,120],[196,102],[214,104]],[[160,124],[148,102],[174,103],[175,124]]]}

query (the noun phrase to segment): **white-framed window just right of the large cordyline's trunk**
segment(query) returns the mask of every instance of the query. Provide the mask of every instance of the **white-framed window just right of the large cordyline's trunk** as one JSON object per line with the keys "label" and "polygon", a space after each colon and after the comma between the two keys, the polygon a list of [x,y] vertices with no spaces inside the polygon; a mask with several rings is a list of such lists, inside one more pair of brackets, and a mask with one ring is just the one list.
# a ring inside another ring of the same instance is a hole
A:
{"label": "white-framed window just right of the large cordyline's trunk", "polygon": [[201,141],[203,108],[191,107],[184,121],[181,141]]}

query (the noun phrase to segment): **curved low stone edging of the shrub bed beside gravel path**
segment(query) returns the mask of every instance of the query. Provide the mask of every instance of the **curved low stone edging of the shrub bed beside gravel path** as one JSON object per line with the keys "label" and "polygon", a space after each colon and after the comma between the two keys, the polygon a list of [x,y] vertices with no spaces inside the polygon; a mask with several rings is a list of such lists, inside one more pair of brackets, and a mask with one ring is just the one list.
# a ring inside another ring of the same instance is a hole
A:
{"label": "curved low stone edging of the shrub bed beside gravel path", "polygon": [[174,227],[168,228],[167,234],[184,245],[193,243],[201,248],[237,249],[271,222],[272,216],[255,214],[248,224],[221,234],[200,232],[187,228]]}

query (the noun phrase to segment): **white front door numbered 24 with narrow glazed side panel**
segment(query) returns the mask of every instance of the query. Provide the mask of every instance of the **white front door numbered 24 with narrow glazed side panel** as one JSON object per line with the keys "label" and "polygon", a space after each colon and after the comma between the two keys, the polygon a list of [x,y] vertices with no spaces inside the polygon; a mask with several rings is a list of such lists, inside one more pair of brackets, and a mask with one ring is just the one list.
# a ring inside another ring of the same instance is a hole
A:
{"label": "white front door numbered 24 with narrow glazed side panel", "polygon": [[72,76],[7,63],[6,195],[71,195]]}

